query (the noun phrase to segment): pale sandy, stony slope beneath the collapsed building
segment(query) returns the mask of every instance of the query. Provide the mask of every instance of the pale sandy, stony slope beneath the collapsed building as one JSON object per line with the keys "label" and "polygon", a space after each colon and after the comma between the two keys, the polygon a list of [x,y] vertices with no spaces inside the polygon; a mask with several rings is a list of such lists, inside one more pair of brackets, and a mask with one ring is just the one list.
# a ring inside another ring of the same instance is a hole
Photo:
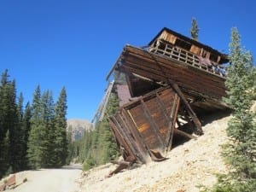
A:
{"label": "pale sandy, stony slope beneath the collapsed building", "polygon": [[227,142],[225,129],[229,119],[228,116],[205,119],[205,134],[173,148],[165,161],[150,162],[113,177],[106,177],[116,167],[111,164],[84,172],[80,191],[197,192],[198,185],[210,186],[216,182],[215,173],[226,170],[220,145]]}

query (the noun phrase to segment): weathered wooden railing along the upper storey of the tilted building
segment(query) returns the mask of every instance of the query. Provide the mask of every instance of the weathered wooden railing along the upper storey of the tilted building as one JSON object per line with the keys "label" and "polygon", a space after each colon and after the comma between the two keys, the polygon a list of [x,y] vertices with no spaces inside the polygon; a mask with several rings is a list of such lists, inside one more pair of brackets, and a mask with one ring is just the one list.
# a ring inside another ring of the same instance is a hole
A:
{"label": "weathered wooden railing along the upper storey of the tilted building", "polygon": [[[148,51],[153,52],[155,54],[165,55],[177,61],[184,62],[190,66],[200,68],[201,70],[207,71],[208,73],[213,73],[225,78],[221,73],[215,71],[213,67],[209,67],[207,65],[202,64],[199,61],[197,55],[189,52],[188,50],[173,46],[172,44],[167,44],[165,42],[158,40],[155,46],[148,48]],[[211,62],[214,63],[215,66],[218,65],[213,61]]]}

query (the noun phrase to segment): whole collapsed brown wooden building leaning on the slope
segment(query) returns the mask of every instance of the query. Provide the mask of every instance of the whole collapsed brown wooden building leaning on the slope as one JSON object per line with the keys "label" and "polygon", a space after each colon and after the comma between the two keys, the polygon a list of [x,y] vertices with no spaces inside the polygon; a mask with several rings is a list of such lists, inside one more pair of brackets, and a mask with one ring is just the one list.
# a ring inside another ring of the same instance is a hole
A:
{"label": "whole collapsed brown wooden building leaning on the slope", "polygon": [[228,61],[218,50],[167,28],[143,48],[126,45],[108,74],[115,72],[120,100],[109,125],[124,158],[114,172],[136,161],[164,160],[173,139],[201,135],[199,117],[228,108],[222,102],[222,65]]}

